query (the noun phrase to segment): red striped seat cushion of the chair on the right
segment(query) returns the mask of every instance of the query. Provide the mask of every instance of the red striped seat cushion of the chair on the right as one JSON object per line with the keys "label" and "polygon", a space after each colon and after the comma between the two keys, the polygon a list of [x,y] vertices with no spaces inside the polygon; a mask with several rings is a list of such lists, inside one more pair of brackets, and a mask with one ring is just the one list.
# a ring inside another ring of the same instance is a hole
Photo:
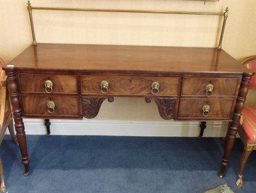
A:
{"label": "red striped seat cushion of the chair on the right", "polygon": [[248,144],[256,144],[256,105],[243,109],[243,132]]}

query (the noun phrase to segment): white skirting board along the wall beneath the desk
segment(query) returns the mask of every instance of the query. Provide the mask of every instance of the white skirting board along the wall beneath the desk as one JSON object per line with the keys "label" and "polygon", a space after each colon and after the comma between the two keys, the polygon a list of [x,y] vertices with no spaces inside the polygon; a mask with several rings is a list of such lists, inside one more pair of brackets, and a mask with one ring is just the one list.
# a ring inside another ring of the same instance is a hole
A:
{"label": "white skirting board along the wall beneath the desk", "polygon": [[[45,135],[44,120],[24,119],[27,135]],[[51,120],[51,135],[198,137],[196,121]],[[204,137],[224,137],[227,122],[207,122]]]}

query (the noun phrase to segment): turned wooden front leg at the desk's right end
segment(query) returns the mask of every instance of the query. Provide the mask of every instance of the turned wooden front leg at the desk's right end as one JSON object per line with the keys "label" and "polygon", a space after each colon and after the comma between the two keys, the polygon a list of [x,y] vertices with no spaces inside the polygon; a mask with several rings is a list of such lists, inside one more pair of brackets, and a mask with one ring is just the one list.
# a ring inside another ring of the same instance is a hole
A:
{"label": "turned wooden front leg at the desk's right end", "polygon": [[252,75],[248,73],[243,73],[241,86],[237,96],[235,111],[232,116],[232,122],[228,125],[227,136],[225,137],[226,146],[225,146],[223,158],[221,160],[221,169],[219,173],[220,178],[223,178],[225,174],[225,169],[229,163],[230,154],[236,140],[237,130],[240,125],[241,112],[244,107],[244,102],[246,100],[246,95],[248,93],[248,86],[250,84],[251,78],[252,78]]}

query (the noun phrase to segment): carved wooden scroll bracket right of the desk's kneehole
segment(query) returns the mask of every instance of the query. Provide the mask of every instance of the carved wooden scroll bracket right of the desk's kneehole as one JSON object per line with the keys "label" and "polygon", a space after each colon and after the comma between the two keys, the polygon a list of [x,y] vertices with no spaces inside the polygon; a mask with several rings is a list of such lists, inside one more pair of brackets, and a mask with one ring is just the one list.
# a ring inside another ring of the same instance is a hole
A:
{"label": "carved wooden scroll bracket right of the desk's kneehole", "polygon": [[175,114],[176,98],[145,98],[147,103],[156,102],[159,114],[164,120],[172,120]]}

